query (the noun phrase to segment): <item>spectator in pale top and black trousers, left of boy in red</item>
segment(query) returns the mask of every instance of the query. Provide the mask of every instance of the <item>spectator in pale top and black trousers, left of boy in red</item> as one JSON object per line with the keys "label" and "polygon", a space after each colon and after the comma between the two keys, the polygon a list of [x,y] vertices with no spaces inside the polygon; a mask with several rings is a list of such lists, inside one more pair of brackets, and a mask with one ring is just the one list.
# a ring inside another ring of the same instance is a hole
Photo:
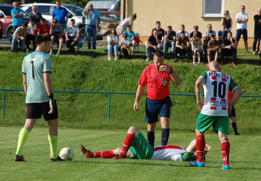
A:
{"label": "spectator in pale top and black trousers, left of boy in red", "polygon": [[28,32],[27,32],[26,37],[25,37],[26,52],[30,51],[30,47],[29,47],[30,41],[33,41],[33,47],[34,47],[34,50],[35,50],[35,48],[36,48],[36,45],[35,45],[36,32],[37,32],[37,25],[34,23],[34,18],[30,17],[29,23],[28,23]]}

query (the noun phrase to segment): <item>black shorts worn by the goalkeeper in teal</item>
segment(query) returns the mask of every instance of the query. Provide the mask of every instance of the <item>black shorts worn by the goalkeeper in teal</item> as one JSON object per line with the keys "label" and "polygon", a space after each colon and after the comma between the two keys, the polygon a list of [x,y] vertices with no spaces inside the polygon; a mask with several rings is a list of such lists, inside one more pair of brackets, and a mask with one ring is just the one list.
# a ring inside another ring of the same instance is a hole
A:
{"label": "black shorts worn by the goalkeeper in teal", "polygon": [[27,103],[26,104],[26,119],[40,119],[42,115],[44,116],[44,120],[54,120],[58,118],[58,109],[56,100],[54,100],[54,112],[53,114],[49,114],[50,105],[49,102],[43,103]]}

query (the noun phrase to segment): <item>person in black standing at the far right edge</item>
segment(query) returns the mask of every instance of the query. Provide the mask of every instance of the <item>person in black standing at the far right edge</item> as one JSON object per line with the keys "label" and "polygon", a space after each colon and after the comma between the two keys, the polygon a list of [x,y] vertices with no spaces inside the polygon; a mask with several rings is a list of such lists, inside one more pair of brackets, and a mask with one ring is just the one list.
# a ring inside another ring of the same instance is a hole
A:
{"label": "person in black standing at the far right edge", "polygon": [[[258,8],[257,15],[254,15],[254,21],[255,21],[254,42],[253,42],[253,49],[251,51],[253,53],[256,53],[259,51],[259,44],[260,44],[260,40],[261,40],[261,8]],[[258,45],[257,45],[257,51],[256,51],[257,41],[258,41]]]}

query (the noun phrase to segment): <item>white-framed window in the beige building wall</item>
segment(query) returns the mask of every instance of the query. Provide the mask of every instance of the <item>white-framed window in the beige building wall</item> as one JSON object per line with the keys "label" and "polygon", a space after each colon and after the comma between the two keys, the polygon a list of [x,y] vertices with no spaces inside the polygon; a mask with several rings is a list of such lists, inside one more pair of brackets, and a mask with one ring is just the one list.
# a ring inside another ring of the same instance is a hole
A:
{"label": "white-framed window in the beige building wall", "polygon": [[221,18],[224,12],[224,0],[204,0],[203,18]]}

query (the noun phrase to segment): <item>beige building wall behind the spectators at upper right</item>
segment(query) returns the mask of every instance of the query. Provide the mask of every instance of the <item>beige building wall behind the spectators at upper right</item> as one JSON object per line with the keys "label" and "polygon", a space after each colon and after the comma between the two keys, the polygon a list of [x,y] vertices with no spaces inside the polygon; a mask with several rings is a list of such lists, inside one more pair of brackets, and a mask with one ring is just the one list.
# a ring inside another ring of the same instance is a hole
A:
{"label": "beige building wall behind the spectators at upper right", "polygon": [[[155,22],[161,22],[161,28],[167,29],[172,26],[174,31],[179,31],[181,24],[185,25],[185,30],[191,33],[193,26],[198,25],[199,31],[204,33],[207,30],[207,24],[212,25],[214,31],[221,28],[221,18],[202,18],[203,0],[183,0],[183,1],[158,1],[158,0],[125,0],[126,14],[129,17],[132,13],[137,13],[137,19],[133,22],[132,29],[140,34],[141,39],[147,40],[151,35],[152,28],[155,28]],[[166,2],[166,3],[165,3]],[[164,4],[165,3],[165,4]],[[182,4],[181,4],[182,3]],[[253,16],[257,14],[257,9],[261,7],[261,1],[257,0],[224,0],[224,11],[230,12],[232,18],[232,33],[236,37],[237,23],[236,14],[240,12],[240,6],[245,5],[245,13],[249,16],[247,22],[248,47],[253,45],[254,20]],[[121,0],[121,18],[123,20],[123,0]],[[243,48],[243,37],[240,38],[239,48]]]}

